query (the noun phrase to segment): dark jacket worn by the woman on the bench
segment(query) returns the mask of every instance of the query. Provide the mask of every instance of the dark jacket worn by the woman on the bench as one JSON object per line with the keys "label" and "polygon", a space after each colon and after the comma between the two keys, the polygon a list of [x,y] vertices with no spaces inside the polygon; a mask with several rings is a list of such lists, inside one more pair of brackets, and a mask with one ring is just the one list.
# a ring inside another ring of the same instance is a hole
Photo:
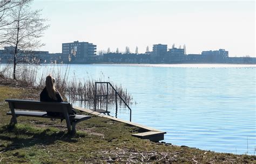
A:
{"label": "dark jacket worn by the woman on the bench", "polygon": [[[57,90],[55,92],[55,96],[57,98],[56,100],[50,98],[46,87],[44,87],[43,91],[40,94],[40,101],[41,102],[59,102],[59,103],[63,102],[63,98]],[[62,114],[58,112],[47,112],[47,115],[54,116],[54,117],[63,117]]]}

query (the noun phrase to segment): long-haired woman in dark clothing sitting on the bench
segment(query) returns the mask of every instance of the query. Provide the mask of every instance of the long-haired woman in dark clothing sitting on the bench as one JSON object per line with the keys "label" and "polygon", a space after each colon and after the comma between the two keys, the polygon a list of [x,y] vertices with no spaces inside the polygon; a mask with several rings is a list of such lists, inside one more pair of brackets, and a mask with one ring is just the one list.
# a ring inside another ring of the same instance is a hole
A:
{"label": "long-haired woman in dark clothing sitting on the bench", "polygon": [[[55,88],[55,79],[49,75],[45,80],[45,87],[40,94],[41,102],[63,102],[62,96],[59,94],[59,91]],[[47,112],[47,115],[50,116],[60,116],[58,112]]]}

